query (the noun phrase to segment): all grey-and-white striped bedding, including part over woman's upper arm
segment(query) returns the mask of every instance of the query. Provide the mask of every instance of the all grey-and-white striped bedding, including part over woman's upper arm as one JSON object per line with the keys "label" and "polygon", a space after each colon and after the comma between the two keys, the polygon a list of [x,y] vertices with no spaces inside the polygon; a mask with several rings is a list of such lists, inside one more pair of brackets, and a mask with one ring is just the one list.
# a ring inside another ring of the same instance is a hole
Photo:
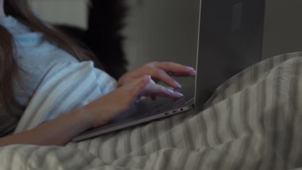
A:
{"label": "all grey-and-white striped bedding, including part over woman's upper arm", "polygon": [[[301,170],[301,56],[302,52],[290,53],[253,65],[221,85],[199,113],[179,114],[65,147],[2,147],[0,169]],[[111,91],[114,82],[97,73],[89,62],[53,68],[15,133]]]}

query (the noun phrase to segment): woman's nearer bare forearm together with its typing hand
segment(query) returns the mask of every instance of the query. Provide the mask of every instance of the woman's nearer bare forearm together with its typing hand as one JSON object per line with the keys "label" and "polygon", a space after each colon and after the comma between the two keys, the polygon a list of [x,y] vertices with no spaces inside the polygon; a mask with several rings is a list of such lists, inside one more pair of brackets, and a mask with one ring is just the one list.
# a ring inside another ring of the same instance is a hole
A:
{"label": "woman's nearer bare forearm together with its typing hand", "polygon": [[0,138],[0,147],[13,144],[65,146],[75,135],[107,123],[128,110],[138,96],[149,94],[179,97],[163,86],[151,84],[150,76],[143,76],[36,128]]}

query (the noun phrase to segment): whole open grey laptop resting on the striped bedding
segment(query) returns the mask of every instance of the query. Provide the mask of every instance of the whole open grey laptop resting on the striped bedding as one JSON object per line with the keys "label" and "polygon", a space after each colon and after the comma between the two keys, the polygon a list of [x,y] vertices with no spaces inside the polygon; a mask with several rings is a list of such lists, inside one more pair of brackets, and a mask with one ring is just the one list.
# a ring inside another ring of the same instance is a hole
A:
{"label": "whole open grey laptop resting on the striped bedding", "polygon": [[[214,90],[261,61],[265,0],[200,0],[195,84],[176,89],[179,99],[142,99],[111,122],[73,138],[81,141],[195,108],[203,109]],[[190,79],[190,78],[188,78]]]}

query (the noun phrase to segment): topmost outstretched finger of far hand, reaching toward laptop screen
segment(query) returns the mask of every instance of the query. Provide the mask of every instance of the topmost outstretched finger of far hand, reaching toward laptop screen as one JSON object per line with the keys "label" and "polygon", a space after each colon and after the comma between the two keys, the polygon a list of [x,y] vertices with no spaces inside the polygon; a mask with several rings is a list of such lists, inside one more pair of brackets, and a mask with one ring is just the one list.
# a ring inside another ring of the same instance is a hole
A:
{"label": "topmost outstretched finger of far hand, reaching toward laptop screen", "polygon": [[171,72],[175,74],[181,74],[183,76],[195,76],[196,71],[192,67],[183,66],[173,62],[155,62],[155,67],[164,70],[165,72]]}

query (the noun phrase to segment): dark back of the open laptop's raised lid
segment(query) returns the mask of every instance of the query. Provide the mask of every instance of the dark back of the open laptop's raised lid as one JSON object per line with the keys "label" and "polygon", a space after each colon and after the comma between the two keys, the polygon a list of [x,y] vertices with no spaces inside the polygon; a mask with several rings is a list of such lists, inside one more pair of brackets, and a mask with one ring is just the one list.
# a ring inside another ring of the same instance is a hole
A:
{"label": "dark back of the open laptop's raised lid", "polygon": [[201,0],[195,107],[261,61],[265,0]]}

